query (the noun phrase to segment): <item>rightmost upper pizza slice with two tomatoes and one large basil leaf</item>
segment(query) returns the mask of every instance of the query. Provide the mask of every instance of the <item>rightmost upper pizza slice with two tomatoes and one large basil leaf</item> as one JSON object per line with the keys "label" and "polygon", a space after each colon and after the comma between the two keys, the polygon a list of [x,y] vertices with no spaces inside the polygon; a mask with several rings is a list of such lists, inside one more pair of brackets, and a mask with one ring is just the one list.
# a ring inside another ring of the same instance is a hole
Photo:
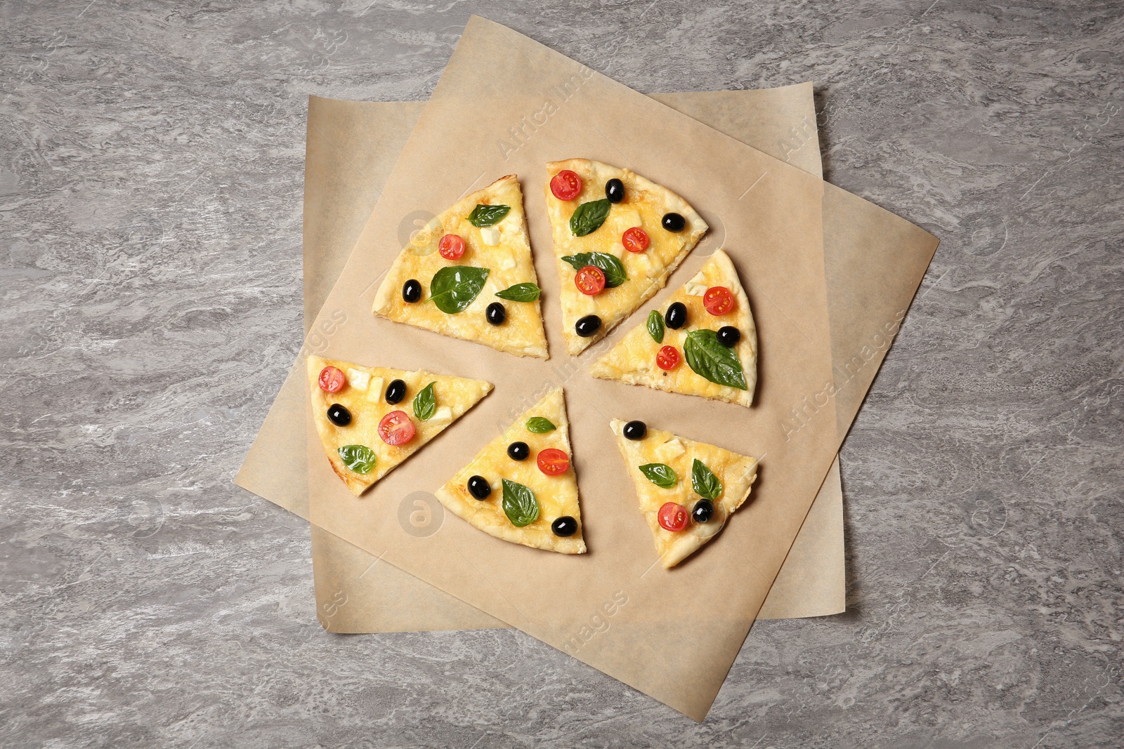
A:
{"label": "rightmost upper pizza slice with two tomatoes and one large basil leaf", "polygon": [[647,322],[590,367],[604,380],[750,405],[758,329],[737,271],[720,249]]}

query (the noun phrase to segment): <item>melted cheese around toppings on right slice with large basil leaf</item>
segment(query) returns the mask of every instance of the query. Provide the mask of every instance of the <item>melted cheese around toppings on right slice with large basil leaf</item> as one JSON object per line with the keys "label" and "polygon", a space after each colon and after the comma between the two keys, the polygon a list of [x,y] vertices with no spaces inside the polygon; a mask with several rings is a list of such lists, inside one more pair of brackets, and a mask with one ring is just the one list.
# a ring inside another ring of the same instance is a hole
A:
{"label": "melted cheese around toppings on right slice with large basil leaf", "polygon": [[[726,286],[734,294],[734,308],[725,314],[714,316],[703,305],[703,293],[710,286]],[[701,287],[701,293],[694,293]],[[679,330],[668,328],[663,342],[655,342],[647,332],[646,325],[628,331],[619,344],[593,363],[589,373],[602,380],[619,380],[629,385],[646,385],[670,393],[700,395],[728,403],[751,405],[758,382],[758,329],[750,311],[750,300],[745,295],[737,271],[729,256],[717,250],[714,257],[687,284],[664,302],[661,314],[674,302],[687,307],[687,325]],[[683,342],[691,330],[708,328],[718,330],[723,326],[734,326],[742,334],[734,346],[742,369],[745,372],[746,390],[713,383],[696,374],[683,357]],[[680,363],[671,372],[664,372],[655,364],[655,356],[664,346],[674,346],[680,354]]]}

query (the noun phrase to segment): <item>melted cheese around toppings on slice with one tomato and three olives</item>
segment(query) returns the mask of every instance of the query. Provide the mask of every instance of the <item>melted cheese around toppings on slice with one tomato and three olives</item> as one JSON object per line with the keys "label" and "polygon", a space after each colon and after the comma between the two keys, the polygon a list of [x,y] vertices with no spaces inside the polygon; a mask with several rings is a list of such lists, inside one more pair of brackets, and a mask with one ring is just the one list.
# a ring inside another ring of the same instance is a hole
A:
{"label": "melted cheese around toppings on slice with one tomato and three olives", "polygon": [[[543,435],[533,433],[526,427],[527,419],[532,417],[550,419],[556,429]],[[573,469],[569,435],[565,402],[562,389],[559,387],[547,393],[507,431],[480,450],[472,463],[437,490],[437,499],[459,517],[496,538],[562,554],[583,554],[586,542],[581,536],[578,478]],[[508,457],[507,447],[515,441],[526,442],[531,448],[526,460]],[[540,451],[550,447],[570,456],[570,467],[559,476],[547,476],[538,469],[536,457]],[[492,486],[492,493],[484,500],[478,500],[469,493],[468,482],[474,475],[483,476]],[[508,520],[504,512],[504,478],[523,484],[535,493],[540,506],[535,522],[517,528]],[[560,538],[551,530],[551,523],[563,515],[578,521],[578,532],[568,538]]]}

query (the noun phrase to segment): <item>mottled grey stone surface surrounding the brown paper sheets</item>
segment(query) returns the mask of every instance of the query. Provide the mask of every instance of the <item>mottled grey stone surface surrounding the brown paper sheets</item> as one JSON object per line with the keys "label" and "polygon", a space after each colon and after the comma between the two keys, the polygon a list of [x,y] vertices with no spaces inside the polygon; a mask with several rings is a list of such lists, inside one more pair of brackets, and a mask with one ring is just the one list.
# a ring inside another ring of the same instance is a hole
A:
{"label": "mottled grey stone surface surrounding the brown paper sheets", "polygon": [[[756,625],[701,724],[517,631],[325,633],[230,483],[300,342],[306,95],[424,99],[472,12],[640,91],[814,80],[828,179],[943,239],[843,450],[850,611]],[[0,743],[1122,746],[1122,18],[0,4]]]}

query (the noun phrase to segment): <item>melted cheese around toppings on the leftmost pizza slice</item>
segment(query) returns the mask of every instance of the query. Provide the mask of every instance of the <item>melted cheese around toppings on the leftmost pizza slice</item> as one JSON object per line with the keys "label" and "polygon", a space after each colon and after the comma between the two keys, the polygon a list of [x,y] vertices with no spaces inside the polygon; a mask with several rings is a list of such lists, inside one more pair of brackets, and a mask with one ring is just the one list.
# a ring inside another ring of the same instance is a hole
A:
{"label": "melted cheese around toppings on the leftmost pizza slice", "polygon": [[[451,377],[428,372],[404,372],[386,367],[361,367],[315,355],[308,357],[306,366],[311,387],[316,431],[320,436],[320,442],[336,475],[356,496],[475,405],[492,387],[491,383],[483,380]],[[318,378],[320,371],[326,366],[334,366],[348,373],[348,383],[337,393],[326,393],[320,390]],[[352,385],[352,373],[366,375],[369,383],[365,391]],[[401,380],[406,383],[406,398],[395,405],[387,403],[382,398],[382,383],[391,380]],[[414,396],[429,383],[436,383],[434,394],[437,399],[437,413],[429,420],[422,421],[414,415]],[[337,427],[328,420],[327,411],[334,403],[343,405],[351,412],[352,420],[346,427]],[[405,411],[414,422],[417,431],[414,439],[406,445],[387,445],[379,437],[379,421],[391,411]],[[363,445],[374,451],[375,464],[370,473],[355,473],[344,464],[337,450],[345,445]]]}

